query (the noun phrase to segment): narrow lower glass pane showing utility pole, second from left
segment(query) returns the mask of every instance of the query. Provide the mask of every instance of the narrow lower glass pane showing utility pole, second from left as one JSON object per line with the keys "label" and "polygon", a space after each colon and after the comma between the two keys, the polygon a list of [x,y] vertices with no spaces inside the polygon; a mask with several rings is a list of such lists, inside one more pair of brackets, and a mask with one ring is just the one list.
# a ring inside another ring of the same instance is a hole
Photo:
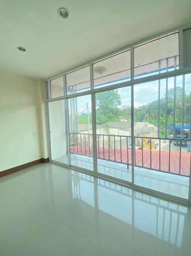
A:
{"label": "narrow lower glass pane showing utility pole, second from left", "polygon": [[93,171],[91,95],[68,99],[71,165]]}

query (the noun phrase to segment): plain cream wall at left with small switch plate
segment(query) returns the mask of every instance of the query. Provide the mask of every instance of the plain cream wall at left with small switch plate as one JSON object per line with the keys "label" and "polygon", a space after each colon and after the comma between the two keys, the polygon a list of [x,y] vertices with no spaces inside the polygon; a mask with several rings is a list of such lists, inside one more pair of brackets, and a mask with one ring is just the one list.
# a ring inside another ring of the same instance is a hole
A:
{"label": "plain cream wall at left with small switch plate", "polygon": [[43,157],[39,90],[38,80],[0,70],[0,171]]}

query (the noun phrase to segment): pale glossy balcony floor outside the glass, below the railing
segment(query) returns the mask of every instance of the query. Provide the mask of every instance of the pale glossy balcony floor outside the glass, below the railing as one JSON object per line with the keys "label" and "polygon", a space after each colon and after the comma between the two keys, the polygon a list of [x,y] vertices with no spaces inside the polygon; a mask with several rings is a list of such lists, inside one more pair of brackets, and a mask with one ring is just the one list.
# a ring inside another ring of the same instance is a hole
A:
{"label": "pale glossy balcony floor outside the glass, below the railing", "polygon": [[[93,170],[93,157],[71,153],[71,165]],[[104,159],[97,159],[101,174],[131,182],[131,166]],[[190,179],[185,176],[154,171],[141,167],[134,168],[134,183],[141,187],[188,199]]]}

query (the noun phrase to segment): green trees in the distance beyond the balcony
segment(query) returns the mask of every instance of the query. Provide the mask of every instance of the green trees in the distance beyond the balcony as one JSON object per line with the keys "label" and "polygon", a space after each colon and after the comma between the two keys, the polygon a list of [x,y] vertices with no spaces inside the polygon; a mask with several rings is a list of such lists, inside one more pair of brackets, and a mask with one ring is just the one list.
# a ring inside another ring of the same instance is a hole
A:
{"label": "green trees in the distance beyond the balcony", "polygon": [[[176,100],[176,112],[174,113],[174,100]],[[120,115],[126,115],[131,121],[131,106],[121,106],[122,101],[118,90],[97,93],[95,96],[96,123],[105,124],[107,122],[119,122]],[[165,110],[166,94],[160,98],[160,117],[158,117],[158,100],[134,108],[134,121],[148,122],[158,126],[160,119],[160,136],[165,136]],[[121,107],[120,107],[121,106]],[[182,87],[176,87],[176,99],[174,99],[174,88],[170,88],[167,93],[167,126],[173,125],[175,115],[176,125],[182,123]],[[184,124],[189,123],[190,118],[190,96],[184,95]],[[78,115],[78,123],[87,124],[88,115],[82,113]],[[91,113],[90,113],[90,124]],[[167,131],[169,132],[169,131]]]}

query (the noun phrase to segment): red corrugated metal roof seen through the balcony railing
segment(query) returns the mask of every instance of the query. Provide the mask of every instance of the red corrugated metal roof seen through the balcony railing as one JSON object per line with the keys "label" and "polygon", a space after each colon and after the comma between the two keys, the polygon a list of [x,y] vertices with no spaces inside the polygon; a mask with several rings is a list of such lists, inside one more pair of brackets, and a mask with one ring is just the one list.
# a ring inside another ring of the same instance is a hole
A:
{"label": "red corrugated metal roof seen through the balcony railing", "polygon": [[[82,154],[85,156],[93,156],[93,148],[90,147],[71,147],[71,153]],[[129,163],[131,164],[131,149],[121,149],[116,148],[97,148],[97,157],[105,160],[112,160],[120,163]],[[170,173],[179,174],[179,151],[170,152]],[[190,176],[190,162],[191,162],[191,153],[181,152],[181,169],[180,174]],[[143,164],[143,165],[142,165]],[[143,150],[143,160],[142,160],[142,150],[135,150],[135,165],[145,168],[151,168],[159,170],[159,151],[151,151],[151,166],[150,166],[150,150]],[[160,151],[160,170],[169,172],[169,151]]]}

